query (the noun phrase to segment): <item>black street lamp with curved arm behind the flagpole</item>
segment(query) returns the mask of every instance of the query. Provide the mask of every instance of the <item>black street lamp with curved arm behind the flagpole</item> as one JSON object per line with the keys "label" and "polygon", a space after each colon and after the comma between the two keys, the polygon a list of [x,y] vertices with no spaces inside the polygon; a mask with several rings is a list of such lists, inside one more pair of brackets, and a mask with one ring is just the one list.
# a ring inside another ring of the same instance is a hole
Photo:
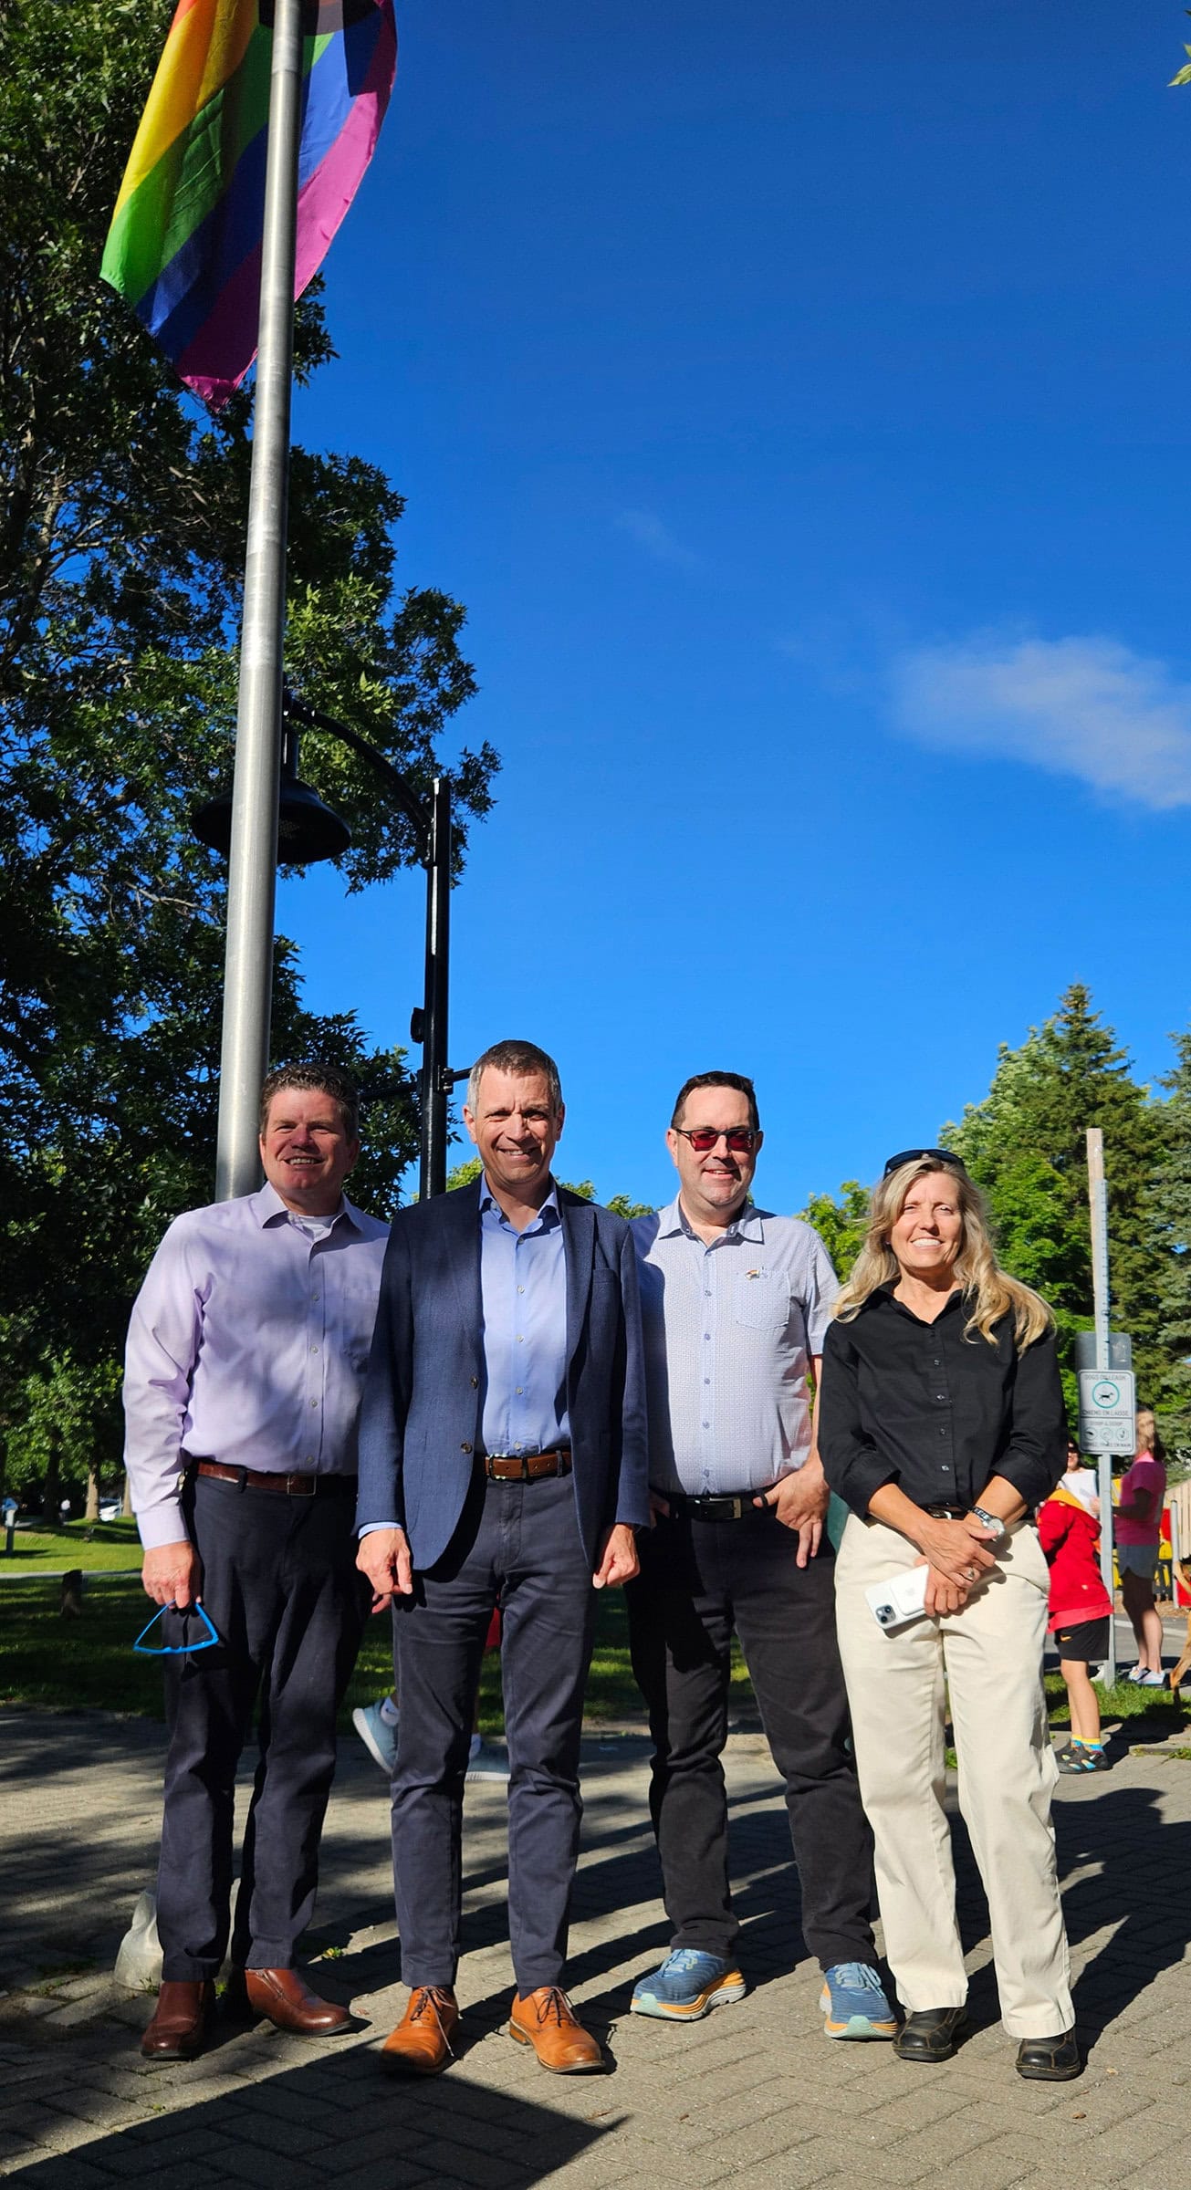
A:
{"label": "black street lamp with curved arm behind the flagpole", "polygon": [[[414,826],[423,867],[427,869],[427,955],[423,1003],[409,1018],[409,1038],[423,1045],[420,1075],[420,1154],[418,1194],[447,1191],[447,1104],[455,1080],[466,1080],[466,1071],[451,1071],[447,1064],[447,1007],[449,1007],[449,953],[451,953],[451,784],[436,775],[429,804],[392,766],[390,760],[361,738],[348,723],[337,723],[320,707],[307,707],[293,692],[282,699],[282,762],[278,799],[278,867],[309,867],[317,858],[339,858],[350,845],[346,821],[324,806],[317,791],[298,780],[298,729],[304,723],[339,738],[352,753],[381,777],[394,806]],[[232,793],[221,791],[193,815],[193,830],[199,843],[228,854],[232,841]]]}

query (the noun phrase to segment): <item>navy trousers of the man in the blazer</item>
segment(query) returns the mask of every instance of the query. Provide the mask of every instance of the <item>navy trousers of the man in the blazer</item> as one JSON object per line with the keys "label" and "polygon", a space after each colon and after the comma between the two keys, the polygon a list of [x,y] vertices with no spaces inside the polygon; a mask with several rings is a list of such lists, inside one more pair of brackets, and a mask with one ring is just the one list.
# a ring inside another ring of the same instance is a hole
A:
{"label": "navy trousers of the man in the blazer", "polygon": [[596,1592],[569,1476],[486,1483],[477,1469],[442,1559],[394,1601],[401,1739],[392,1868],[405,1984],[453,1984],[462,1807],[479,1660],[501,1607],[508,1737],[508,1929],[519,1993],[560,1984],[582,1802],[578,1745]]}

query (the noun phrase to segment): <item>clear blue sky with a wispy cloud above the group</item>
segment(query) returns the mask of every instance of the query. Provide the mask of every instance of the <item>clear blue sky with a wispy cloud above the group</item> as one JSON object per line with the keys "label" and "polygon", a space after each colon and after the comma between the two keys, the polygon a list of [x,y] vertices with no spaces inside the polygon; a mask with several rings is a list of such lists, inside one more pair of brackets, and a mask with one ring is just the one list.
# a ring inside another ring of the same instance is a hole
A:
{"label": "clear blue sky with a wispy cloud above the group", "polygon": [[[1180,7],[398,0],[296,436],[407,495],[497,806],[453,1062],[554,1049],[560,1169],[670,1191],[758,1080],[799,1207],[979,1099],[1073,979],[1191,1016]],[[311,775],[315,771],[311,769]],[[420,876],[285,883],[403,1040]]]}

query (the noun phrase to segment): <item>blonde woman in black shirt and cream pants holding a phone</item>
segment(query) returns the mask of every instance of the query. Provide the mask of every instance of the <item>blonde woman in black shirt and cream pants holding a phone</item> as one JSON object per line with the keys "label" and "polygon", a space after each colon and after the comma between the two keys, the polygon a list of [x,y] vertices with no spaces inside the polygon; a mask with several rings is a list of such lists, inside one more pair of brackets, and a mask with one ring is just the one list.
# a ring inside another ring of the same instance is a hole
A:
{"label": "blonde woman in black shirt and cream pants holding a phone", "polygon": [[[998,1268],[981,1198],[946,1150],[891,1156],[874,1191],[823,1347],[819,1450],[852,1507],[836,1621],[884,1951],[906,2008],[895,2052],[946,2061],[963,2028],[946,1682],[1016,2065],[1077,2076],[1042,1695],[1049,1575],[1031,1520],[1066,1456],[1053,1318]],[[915,1568],[924,1612],[878,1625],[867,1586],[884,1597]]]}

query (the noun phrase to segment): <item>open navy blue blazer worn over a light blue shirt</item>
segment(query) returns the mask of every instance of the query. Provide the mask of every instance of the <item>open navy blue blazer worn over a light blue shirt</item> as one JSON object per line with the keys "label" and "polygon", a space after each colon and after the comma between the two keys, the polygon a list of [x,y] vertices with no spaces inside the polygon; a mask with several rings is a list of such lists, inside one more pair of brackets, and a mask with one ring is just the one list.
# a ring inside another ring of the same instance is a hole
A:
{"label": "open navy blue blazer worn over a light blue shirt", "polygon": [[[596,1570],[613,1522],[646,1526],[646,1380],[637,1257],[624,1218],[558,1187],[567,1259],[567,1415],[578,1529]],[[442,1557],[482,1450],[479,1180],[398,1209],[359,1415],[357,1526],[405,1529]]]}

